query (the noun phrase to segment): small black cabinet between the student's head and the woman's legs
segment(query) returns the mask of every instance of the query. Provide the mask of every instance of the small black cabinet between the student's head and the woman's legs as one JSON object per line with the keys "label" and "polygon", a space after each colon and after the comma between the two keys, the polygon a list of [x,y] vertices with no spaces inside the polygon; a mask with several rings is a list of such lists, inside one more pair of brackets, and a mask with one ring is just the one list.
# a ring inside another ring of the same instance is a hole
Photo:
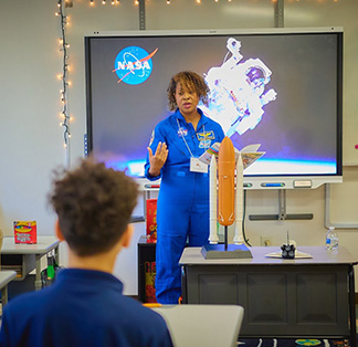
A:
{"label": "small black cabinet between the student's head and the woman's legs", "polygon": [[156,261],[156,243],[141,235],[138,241],[138,299],[146,302],[146,263]]}

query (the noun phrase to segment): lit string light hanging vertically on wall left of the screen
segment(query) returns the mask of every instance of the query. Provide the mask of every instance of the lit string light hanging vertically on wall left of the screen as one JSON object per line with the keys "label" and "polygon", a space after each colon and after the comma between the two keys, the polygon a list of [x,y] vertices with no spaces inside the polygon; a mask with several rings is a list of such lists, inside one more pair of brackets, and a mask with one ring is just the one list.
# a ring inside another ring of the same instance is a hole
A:
{"label": "lit string light hanging vertically on wall left of the screen", "polygon": [[69,114],[69,86],[71,82],[67,81],[69,78],[69,70],[70,65],[67,63],[69,54],[67,49],[70,48],[70,43],[66,41],[66,29],[65,27],[69,25],[70,17],[65,15],[64,13],[64,3],[63,0],[57,0],[59,12],[55,12],[55,15],[60,17],[61,23],[61,38],[59,39],[59,44],[61,44],[60,52],[63,54],[63,69],[62,74],[57,74],[57,78],[62,81],[62,90],[60,91],[61,95],[61,103],[62,103],[62,122],[60,126],[64,127],[63,138],[64,138],[64,147],[67,147],[69,139],[71,137],[70,134],[70,114]]}

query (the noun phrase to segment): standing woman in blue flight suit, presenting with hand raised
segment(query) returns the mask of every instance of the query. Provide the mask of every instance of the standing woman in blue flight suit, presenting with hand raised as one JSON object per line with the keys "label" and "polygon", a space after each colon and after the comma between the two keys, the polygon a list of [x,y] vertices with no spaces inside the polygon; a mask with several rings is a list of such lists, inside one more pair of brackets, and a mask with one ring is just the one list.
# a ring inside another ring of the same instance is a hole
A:
{"label": "standing woman in blue flight suit, presenting with hand raised", "polygon": [[161,178],[157,208],[158,303],[178,304],[181,295],[178,264],[187,240],[201,246],[209,238],[209,174],[199,157],[224,138],[221,126],[203,115],[199,101],[207,103],[209,88],[193,72],[172,76],[168,87],[172,115],[152,132],[145,175]]}

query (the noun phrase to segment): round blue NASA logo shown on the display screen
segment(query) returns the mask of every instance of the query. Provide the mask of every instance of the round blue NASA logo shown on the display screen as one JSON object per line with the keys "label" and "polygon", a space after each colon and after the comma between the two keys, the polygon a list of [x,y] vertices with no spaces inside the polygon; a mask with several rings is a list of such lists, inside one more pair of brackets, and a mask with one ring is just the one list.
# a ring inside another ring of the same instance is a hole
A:
{"label": "round blue NASA logo shown on the display screen", "polygon": [[145,82],[151,74],[151,57],[157,53],[158,49],[150,54],[139,46],[128,46],[122,50],[115,60],[115,72],[118,76],[118,83],[122,81],[127,84],[140,84]]}

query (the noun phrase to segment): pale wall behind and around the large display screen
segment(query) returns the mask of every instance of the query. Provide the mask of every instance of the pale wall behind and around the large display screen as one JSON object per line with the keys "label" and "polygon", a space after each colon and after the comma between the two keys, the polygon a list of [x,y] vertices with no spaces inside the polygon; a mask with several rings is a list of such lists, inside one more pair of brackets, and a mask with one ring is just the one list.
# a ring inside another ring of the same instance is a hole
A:
{"label": "pale wall behind and around the large display screen", "polygon": [[[109,1],[107,1],[109,2]],[[356,81],[358,67],[358,23],[356,0],[286,0],[285,27],[345,28],[344,82],[344,161],[349,166],[349,185],[358,183],[358,150],[354,148],[358,134],[358,98]],[[65,165],[63,128],[59,126],[62,111],[61,82],[56,73],[62,70],[57,39],[61,35],[55,0],[0,1],[0,229],[12,233],[15,219],[34,219],[40,234],[52,234],[54,214],[46,207],[52,170]],[[102,6],[95,0],[73,0],[67,9],[67,36],[72,87],[70,90],[71,123],[70,158],[72,165],[83,156],[83,136],[86,132],[84,35],[93,31],[138,30],[138,7],[131,0],[120,6]],[[274,2],[267,0],[232,0],[215,3],[213,0],[146,1],[147,30],[179,29],[242,29],[273,28]],[[351,171],[354,174],[351,175]],[[248,192],[248,214],[277,213],[277,191]],[[143,210],[143,201],[138,211]],[[355,197],[340,206],[355,206]],[[252,245],[260,245],[261,236],[273,244],[285,241],[286,231],[298,246],[322,245],[326,228],[325,188],[287,191],[287,213],[314,213],[310,221],[248,221],[246,235]],[[352,211],[354,213],[354,211]],[[137,294],[136,241],[144,233],[144,223],[137,223],[131,248],[119,255],[116,274],[125,283],[125,293]],[[357,254],[357,229],[339,230],[341,245]],[[65,246],[62,262],[65,264]]]}

